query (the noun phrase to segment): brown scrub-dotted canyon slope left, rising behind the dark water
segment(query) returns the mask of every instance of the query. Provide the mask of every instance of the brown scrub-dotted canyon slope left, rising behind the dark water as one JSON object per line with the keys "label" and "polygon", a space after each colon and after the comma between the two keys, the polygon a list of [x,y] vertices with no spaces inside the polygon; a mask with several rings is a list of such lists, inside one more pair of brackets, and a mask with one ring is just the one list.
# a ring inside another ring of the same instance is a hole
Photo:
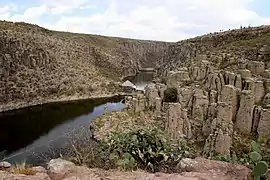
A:
{"label": "brown scrub-dotted canyon slope left, rising behind the dark water", "polygon": [[114,91],[113,82],[154,66],[168,44],[50,31],[0,22],[0,110],[17,103]]}

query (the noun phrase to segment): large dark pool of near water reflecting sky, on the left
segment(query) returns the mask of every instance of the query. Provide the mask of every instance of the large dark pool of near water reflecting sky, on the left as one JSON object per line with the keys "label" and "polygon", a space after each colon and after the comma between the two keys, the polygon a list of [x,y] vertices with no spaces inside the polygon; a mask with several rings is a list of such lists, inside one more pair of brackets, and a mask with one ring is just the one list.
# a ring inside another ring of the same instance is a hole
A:
{"label": "large dark pool of near water reflecting sky, on the left", "polygon": [[114,99],[84,100],[54,103],[24,108],[0,115],[0,152],[5,150],[7,160],[27,159],[33,162],[33,153],[60,148],[66,135],[76,127],[89,127],[91,119],[107,111],[121,110],[124,104]]}

